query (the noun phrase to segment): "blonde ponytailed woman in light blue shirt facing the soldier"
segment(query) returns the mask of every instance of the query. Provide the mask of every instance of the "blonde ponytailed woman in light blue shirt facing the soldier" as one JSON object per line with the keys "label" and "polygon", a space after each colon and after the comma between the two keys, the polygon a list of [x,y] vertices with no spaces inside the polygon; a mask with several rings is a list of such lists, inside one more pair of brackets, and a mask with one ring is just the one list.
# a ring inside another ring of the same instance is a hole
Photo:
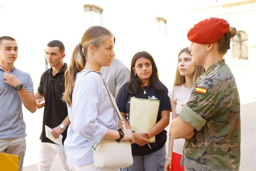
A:
{"label": "blonde ponytailed woman in light blue shirt facing the soldier", "polygon": [[[110,66],[115,56],[113,47],[114,36],[108,29],[88,28],[75,47],[65,72],[63,100],[68,105],[71,124],[64,147],[71,171],[98,171],[93,165],[92,144],[102,139],[121,138],[122,133],[117,131],[117,114],[99,73],[102,66]],[[88,70],[96,72],[84,75]],[[133,140],[131,130],[123,130],[123,133],[120,141]]]}

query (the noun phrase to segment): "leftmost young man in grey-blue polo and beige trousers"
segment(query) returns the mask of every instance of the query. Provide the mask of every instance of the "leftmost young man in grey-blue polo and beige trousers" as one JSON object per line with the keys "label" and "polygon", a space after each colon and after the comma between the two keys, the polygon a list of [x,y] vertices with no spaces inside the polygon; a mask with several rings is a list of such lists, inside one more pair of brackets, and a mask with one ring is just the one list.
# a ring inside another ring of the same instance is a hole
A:
{"label": "leftmost young man in grey-blue polo and beige trousers", "polygon": [[15,39],[0,37],[0,152],[18,155],[21,171],[27,136],[22,103],[31,113],[36,103],[30,75],[14,67],[17,56]]}

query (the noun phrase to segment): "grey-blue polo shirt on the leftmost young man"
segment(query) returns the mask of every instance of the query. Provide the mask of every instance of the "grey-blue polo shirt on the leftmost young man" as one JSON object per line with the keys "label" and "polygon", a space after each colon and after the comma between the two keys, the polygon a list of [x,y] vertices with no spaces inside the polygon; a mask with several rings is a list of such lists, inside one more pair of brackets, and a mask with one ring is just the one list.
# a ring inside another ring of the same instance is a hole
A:
{"label": "grey-blue polo shirt on the leftmost young man", "polygon": [[[0,67],[0,139],[26,137],[22,101],[14,87],[4,83],[6,73]],[[28,73],[13,67],[10,74],[20,80],[27,92],[34,93],[33,82]]]}

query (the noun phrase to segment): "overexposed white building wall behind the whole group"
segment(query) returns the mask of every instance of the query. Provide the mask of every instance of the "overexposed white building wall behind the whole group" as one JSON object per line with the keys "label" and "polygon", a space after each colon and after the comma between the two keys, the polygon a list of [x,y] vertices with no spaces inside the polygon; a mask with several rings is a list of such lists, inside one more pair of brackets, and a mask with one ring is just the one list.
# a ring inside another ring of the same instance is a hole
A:
{"label": "overexposed white building wall behind the whole group", "polygon": [[[231,51],[225,55],[227,64],[245,96],[256,96],[256,92],[245,92],[245,83],[255,83],[256,67],[255,24],[246,19],[256,15],[256,5],[221,5],[236,1],[176,1],[168,0],[32,0],[0,2],[0,36],[14,37],[19,46],[15,66],[29,72],[35,84],[45,69],[44,49],[49,41],[58,39],[66,48],[64,62],[69,64],[74,47],[80,42],[88,28],[83,5],[94,4],[103,8],[103,26],[116,36],[116,57],[130,68],[136,52],[149,52],[159,69],[161,81],[172,87],[180,49],[190,45],[187,39],[189,28],[200,20],[211,16],[225,18],[230,26],[243,30],[248,35],[249,57],[246,61],[231,60]],[[156,17],[167,19],[167,35],[159,35]],[[254,79],[252,79],[254,78]],[[247,89],[248,90],[248,89]]]}

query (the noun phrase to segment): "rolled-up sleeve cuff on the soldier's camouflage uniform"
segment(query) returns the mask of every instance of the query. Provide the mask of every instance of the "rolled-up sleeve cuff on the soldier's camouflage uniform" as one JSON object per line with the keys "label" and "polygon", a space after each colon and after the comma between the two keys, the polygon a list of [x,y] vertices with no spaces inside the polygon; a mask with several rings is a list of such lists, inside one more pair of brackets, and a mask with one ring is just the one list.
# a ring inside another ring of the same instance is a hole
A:
{"label": "rolled-up sleeve cuff on the soldier's camouflage uniform", "polygon": [[185,122],[188,122],[191,126],[195,127],[197,131],[201,130],[206,123],[206,120],[200,115],[195,113],[187,105],[183,106],[178,116]]}

